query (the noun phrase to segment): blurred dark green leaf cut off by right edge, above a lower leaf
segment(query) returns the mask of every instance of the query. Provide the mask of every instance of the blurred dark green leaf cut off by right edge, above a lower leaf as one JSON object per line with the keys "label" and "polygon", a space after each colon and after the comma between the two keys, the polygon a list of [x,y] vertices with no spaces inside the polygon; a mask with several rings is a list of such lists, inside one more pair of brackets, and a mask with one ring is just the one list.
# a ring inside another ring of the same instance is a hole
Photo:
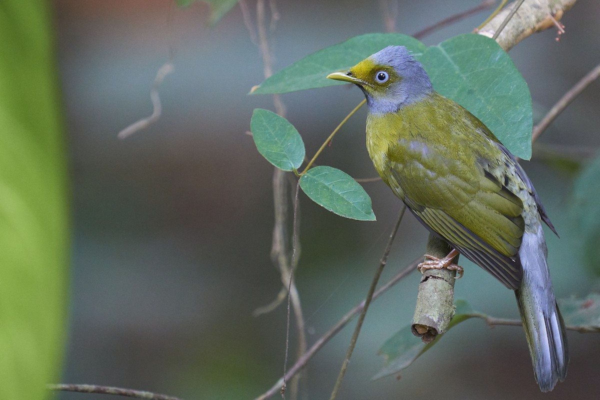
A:
{"label": "blurred dark green leaf cut off by right edge, above a lower leaf", "polygon": [[581,245],[583,260],[590,271],[600,275],[598,243],[600,243],[600,157],[596,157],[575,180],[569,204],[572,232]]}

